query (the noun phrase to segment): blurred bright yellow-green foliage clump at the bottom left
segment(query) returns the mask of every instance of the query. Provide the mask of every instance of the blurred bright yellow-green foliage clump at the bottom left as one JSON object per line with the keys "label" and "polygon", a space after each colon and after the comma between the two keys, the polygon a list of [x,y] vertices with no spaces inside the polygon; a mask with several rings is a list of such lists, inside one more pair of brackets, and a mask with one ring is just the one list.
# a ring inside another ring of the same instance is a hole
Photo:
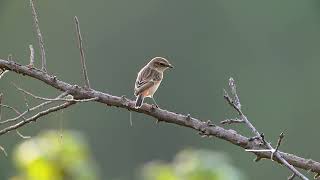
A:
{"label": "blurred bright yellow-green foliage clump at the bottom left", "polygon": [[19,144],[12,180],[97,180],[98,173],[83,137],[73,131],[46,131]]}

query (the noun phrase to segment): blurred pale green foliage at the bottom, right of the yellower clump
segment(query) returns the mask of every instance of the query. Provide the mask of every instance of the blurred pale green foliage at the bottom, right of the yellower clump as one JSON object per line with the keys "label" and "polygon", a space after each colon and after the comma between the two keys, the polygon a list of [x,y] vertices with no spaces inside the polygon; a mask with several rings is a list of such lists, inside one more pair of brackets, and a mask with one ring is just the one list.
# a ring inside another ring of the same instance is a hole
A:
{"label": "blurred pale green foliage at the bottom, right of the yellower clump", "polygon": [[242,180],[243,175],[221,153],[184,150],[171,163],[151,162],[142,171],[144,180]]}

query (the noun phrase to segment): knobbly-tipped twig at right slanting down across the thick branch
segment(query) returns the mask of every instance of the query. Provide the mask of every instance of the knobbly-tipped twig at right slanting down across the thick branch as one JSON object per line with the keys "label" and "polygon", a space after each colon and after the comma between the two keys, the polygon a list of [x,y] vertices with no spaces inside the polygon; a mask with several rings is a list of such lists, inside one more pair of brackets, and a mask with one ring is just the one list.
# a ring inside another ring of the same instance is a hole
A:
{"label": "knobbly-tipped twig at right slanting down across the thick branch", "polygon": [[[261,134],[258,132],[258,130],[251,124],[251,122],[248,120],[248,118],[244,115],[244,113],[241,110],[241,104],[240,104],[240,100],[237,94],[237,89],[236,89],[236,84],[234,79],[231,77],[229,79],[229,86],[231,89],[231,93],[234,97],[234,100],[232,100],[232,98],[228,95],[227,91],[224,90],[224,98],[227,100],[227,102],[239,113],[241,119],[245,122],[245,124],[251,129],[251,131],[256,135],[256,136],[261,136]],[[264,138],[260,138],[261,141]],[[275,149],[271,146],[270,143],[264,141],[265,145],[267,146],[267,148],[269,149],[268,151],[274,153],[274,155],[279,159],[279,161],[284,164],[287,168],[289,168],[293,173],[295,173],[299,178],[303,179],[303,180],[308,180],[307,177],[305,177],[303,174],[301,174],[294,166],[292,166],[290,163],[288,163],[282,156],[280,153],[276,152]],[[246,149],[246,151],[251,151],[251,152],[259,152],[258,150],[255,149]],[[261,152],[266,151],[265,149],[262,149]]]}

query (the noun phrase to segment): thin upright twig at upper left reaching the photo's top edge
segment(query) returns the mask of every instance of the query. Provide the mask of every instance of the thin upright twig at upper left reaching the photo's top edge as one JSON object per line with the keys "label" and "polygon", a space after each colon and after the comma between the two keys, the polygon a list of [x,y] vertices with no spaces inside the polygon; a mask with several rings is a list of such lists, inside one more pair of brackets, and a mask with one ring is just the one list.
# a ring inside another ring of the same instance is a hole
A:
{"label": "thin upright twig at upper left reaching the photo's top edge", "polygon": [[47,72],[47,60],[46,60],[46,51],[44,48],[44,41],[43,37],[40,31],[39,27],[39,19],[37,15],[37,11],[34,5],[34,0],[30,0],[30,7],[32,9],[32,15],[33,15],[33,21],[34,21],[34,27],[36,29],[37,37],[38,37],[38,42],[39,42],[39,47],[40,47],[40,52],[41,52],[41,70],[44,72]]}

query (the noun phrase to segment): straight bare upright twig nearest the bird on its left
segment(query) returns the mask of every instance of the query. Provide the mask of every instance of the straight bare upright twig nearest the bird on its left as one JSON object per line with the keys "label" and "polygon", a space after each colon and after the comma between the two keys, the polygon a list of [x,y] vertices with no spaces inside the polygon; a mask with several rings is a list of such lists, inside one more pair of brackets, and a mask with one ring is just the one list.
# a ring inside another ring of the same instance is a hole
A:
{"label": "straight bare upright twig nearest the bird on its left", "polygon": [[87,66],[86,66],[86,58],[84,55],[84,49],[83,49],[83,44],[82,44],[82,36],[80,32],[80,25],[79,25],[79,20],[77,16],[74,17],[74,21],[76,24],[76,30],[77,30],[77,36],[78,36],[78,45],[80,49],[80,59],[81,59],[81,65],[82,65],[82,73],[84,76],[84,82],[85,82],[85,87],[90,89],[90,82],[88,78],[88,73],[87,73]]}

